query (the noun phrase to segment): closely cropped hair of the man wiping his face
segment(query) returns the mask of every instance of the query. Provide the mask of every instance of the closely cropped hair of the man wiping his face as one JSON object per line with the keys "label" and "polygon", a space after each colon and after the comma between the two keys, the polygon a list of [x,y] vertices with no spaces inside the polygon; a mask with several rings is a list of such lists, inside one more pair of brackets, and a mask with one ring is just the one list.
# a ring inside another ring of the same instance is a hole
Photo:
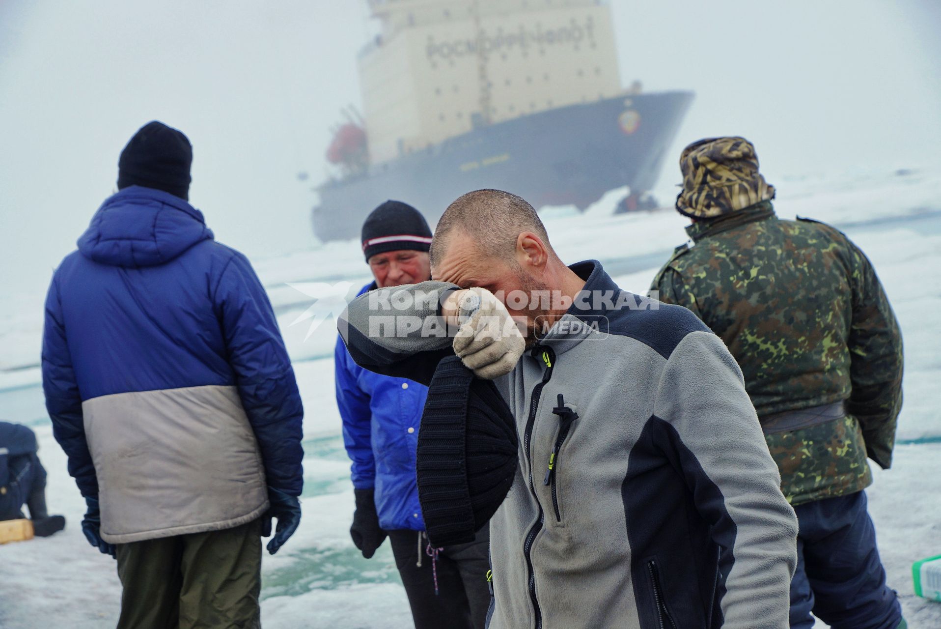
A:
{"label": "closely cropped hair of the man wiping his face", "polygon": [[474,190],[448,205],[435,228],[430,251],[432,265],[441,261],[455,228],[473,238],[481,252],[502,260],[513,259],[517,238],[523,232],[539,236],[552,252],[546,226],[533,206],[522,197],[503,190]]}

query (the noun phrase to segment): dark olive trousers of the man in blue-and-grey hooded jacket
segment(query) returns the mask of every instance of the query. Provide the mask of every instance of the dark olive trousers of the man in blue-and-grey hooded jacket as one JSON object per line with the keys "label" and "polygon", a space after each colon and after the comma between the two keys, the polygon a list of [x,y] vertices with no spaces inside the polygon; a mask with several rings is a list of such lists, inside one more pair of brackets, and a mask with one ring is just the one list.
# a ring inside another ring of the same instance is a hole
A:
{"label": "dark olive trousers of the man in blue-and-grey hooded jacket", "polygon": [[118,629],[258,629],[260,520],[118,544]]}

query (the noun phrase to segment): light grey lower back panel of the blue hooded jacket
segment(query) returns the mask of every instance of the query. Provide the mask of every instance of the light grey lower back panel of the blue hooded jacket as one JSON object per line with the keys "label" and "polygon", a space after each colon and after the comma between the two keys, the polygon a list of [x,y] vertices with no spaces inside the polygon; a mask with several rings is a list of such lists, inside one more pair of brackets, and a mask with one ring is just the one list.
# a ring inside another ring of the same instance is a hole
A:
{"label": "light grey lower back panel of the blue hooded jacket", "polygon": [[233,386],[82,403],[109,543],[221,530],[268,508],[262,456]]}

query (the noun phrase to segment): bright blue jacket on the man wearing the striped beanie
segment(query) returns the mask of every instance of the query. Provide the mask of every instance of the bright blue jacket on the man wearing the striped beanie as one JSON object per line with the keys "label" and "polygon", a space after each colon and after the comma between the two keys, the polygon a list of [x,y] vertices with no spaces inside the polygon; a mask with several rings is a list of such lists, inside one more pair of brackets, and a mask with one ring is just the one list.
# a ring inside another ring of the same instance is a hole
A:
{"label": "bright blue jacket on the man wearing the striped beanie", "polygon": [[[367,284],[359,295],[374,288],[375,282]],[[337,340],[334,370],[353,487],[375,488],[382,528],[423,531],[415,449],[428,387],[363,369],[353,362],[343,339]]]}

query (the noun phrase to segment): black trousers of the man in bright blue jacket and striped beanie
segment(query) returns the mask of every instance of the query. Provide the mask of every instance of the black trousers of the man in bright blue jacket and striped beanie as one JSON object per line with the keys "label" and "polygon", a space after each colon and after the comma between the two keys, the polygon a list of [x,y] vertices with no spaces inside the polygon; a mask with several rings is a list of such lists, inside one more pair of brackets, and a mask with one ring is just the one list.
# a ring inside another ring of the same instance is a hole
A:
{"label": "black trousers of the man in bright blue jacket and striped beanie", "polygon": [[484,629],[490,605],[486,581],[490,538],[486,526],[470,543],[445,546],[438,554],[436,566],[426,553],[428,538],[424,533],[389,531],[389,540],[395,566],[406,587],[415,629]]}

